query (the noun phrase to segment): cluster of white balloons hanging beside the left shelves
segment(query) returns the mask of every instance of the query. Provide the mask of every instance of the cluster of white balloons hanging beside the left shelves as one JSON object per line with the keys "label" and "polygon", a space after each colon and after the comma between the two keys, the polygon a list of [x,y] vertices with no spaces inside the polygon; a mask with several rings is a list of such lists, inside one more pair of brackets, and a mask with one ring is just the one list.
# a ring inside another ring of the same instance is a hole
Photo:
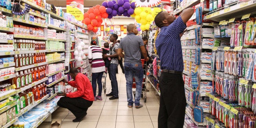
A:
{"label": "cluster of white balloons hanging beside the left shelves", "polygon": [[74,51],[75,60],[77,61],[77,66],[79,66],[82,62],[82,58],[85,57],[86,50],[83,51],[85,44],[84,42],[78,42],[77,49]]}

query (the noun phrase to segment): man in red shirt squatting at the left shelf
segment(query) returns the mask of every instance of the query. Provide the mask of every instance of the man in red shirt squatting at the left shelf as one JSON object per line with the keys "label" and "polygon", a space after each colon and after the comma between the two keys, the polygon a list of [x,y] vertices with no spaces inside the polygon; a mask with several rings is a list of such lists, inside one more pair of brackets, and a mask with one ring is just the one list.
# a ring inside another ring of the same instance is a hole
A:
{"label": "man in red shirt squatting at the left shelf", "polygon": [[73,122],[80,122],[87,115],[88,108],[93,104],[93,88],[88,77],[78,73],[77,68],[71,68],[69,73],[75,80],[68,82],[64,79],[62,81],[77,88],[77,91],[74,93],[57,93],[58,96],[64,96],[60,98],[57,105],[67,108],[75,115],[76,118],[73,119]]}

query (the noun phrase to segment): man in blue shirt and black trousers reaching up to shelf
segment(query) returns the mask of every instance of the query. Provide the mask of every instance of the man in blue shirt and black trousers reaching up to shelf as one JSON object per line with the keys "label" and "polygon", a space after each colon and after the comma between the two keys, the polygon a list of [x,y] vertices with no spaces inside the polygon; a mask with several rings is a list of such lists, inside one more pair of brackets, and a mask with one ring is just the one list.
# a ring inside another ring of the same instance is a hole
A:
{"label": "man in blue shirt and black trousers reaching up to shelf", "polygon": [[161,28],[155,41],[162,70],[159,78],[158,128],[183,128],[186,99],[182,79],[181,35],[193,13],[193,8],[184,9],[175,19],[173,15],[161,11],[154,18],[155,24]]}

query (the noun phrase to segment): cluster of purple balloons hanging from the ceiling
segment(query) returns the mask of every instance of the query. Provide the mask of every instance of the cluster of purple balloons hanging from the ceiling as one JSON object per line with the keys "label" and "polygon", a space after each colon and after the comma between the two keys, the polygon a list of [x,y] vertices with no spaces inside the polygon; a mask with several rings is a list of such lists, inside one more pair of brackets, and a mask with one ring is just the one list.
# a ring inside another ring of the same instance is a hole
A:
{"label": "cluster of purple balloons hanging from the ceiling", "polygon": [[113,16],[127,16],[130,17],[134,13],[135,2],[130,3],[130,0],[112,0],[104,1],[102,6],[106,7],[106,13],[108,13],[108,19]]}

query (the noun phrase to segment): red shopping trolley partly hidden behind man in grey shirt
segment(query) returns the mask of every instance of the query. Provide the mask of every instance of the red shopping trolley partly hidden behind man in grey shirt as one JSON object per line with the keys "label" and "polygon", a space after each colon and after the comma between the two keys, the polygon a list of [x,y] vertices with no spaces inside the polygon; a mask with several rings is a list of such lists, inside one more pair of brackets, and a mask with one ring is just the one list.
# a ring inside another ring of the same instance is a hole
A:
{"label": "red shopping trolley partly hidden behind man in grey shirt", "polygon": [[[142,63],[143,72],[146,73],[147,63],[145,63],[144,59],[141,59],[141,63]],[[143,81],[142,81],[141,98],[144,99],[144,102],[147,102],[147,86],[146,86],[147,79],[146,79],[146,74],[144,73],[143,73]],[[144,86],[145,88],[143,88]],[[135,97],[135,92],[136,92],[136,83],[135,83],[135,78],[133,77],[132,93],[134,97]]]}

